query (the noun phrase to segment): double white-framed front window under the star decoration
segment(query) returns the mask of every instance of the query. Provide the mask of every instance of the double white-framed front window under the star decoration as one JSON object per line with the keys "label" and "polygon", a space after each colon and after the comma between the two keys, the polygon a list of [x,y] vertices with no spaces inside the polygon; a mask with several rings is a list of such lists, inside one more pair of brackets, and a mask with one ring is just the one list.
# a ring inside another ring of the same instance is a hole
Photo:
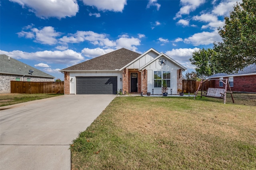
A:
{"label": "double white-framed front window under the star decoration", "polygon": [[170,87],[171,72],[170,71],[154,71],[154,88],[161,88],[162,80],[165,80],[167,87]]}

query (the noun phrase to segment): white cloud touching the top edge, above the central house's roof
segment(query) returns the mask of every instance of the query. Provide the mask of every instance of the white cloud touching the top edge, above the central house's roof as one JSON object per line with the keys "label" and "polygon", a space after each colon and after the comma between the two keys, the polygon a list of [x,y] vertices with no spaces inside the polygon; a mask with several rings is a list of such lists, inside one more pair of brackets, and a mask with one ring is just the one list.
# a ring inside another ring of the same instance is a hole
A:
{"label": "white cloud touching the top edge, above the central house's roof", "polygon": [[122,12],[127,4],[126,0],[83,0],[85,5],[94,6],[99,11]]}

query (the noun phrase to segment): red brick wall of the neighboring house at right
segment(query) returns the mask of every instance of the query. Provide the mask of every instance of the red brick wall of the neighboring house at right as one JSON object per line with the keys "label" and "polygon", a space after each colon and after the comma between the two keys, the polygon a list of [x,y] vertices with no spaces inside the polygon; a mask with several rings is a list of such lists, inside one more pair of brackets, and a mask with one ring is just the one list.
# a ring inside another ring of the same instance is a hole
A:
{"label": "red brick wall of the neighboring house at right", "polygon": [[[228,77],[223,77],[223,79]],[[231,91],[236,92],[254,92],[256,93],[256,75],[252,76],[234,76],[234,87],[230,87]],[[215,80],[216,88],[223,88],[219,86],[219,80]],[[227,90],[229,90],[227,88]]]}

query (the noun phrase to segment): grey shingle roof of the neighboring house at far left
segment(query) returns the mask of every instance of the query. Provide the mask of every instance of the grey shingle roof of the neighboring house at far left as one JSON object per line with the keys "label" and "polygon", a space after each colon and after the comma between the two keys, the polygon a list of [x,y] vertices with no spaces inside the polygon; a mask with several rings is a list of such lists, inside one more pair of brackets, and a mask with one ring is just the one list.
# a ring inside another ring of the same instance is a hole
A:
{"label": "grey shingle roof of the neighboring house at far left", "polygon": [[[34,70],[29,71],[29,70]],[[25,75],[35,77],[54,78],[50,74],[42,72],[28,64],[22,63],[7,55],[0,55],[0,74],[14,74],[14,75]]]}

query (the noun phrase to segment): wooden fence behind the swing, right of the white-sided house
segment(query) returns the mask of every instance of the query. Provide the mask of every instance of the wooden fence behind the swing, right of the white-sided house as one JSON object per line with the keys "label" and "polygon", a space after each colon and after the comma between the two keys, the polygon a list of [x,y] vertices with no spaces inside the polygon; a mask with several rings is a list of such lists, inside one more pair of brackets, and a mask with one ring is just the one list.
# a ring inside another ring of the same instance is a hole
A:
{"label": "wooden fence behind the swing, right of the white-sided house", "polygon": [[[196,80],[182,80],[182,90],[186,90],[186,92],[194,93],[198,89],[200,81]],[[215,81],[209,80],[205,84],[205,88],[215,88]]]}

